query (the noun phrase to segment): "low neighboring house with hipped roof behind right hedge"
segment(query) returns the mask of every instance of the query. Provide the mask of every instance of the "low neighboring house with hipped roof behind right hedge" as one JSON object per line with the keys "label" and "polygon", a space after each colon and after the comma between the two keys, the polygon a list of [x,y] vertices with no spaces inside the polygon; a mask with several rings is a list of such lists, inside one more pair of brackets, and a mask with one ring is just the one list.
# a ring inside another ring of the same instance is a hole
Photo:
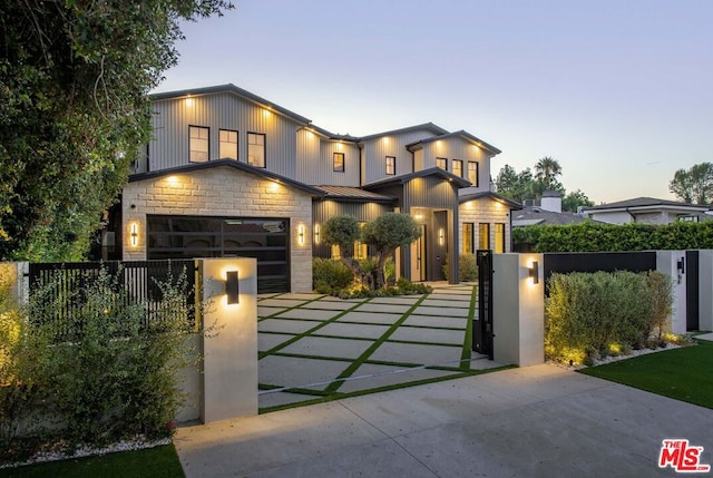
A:
{"label": "low neighboring house with hipped roof behind right hedge", "polygon": [[600,206],[583,207],[582,214],[609,224],[671,224],[675,221],[700,221],[710,206],[676,201],[636,197]]}

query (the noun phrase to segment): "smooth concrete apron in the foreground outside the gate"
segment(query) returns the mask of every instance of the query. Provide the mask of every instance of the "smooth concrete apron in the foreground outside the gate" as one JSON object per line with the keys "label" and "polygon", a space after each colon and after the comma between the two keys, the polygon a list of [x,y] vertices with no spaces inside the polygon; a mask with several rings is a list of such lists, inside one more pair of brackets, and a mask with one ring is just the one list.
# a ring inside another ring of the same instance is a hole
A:
{"label": "smooth concrete apron in the foreground outside the gate", "polygon": [[713,410],[546,364],[179,428],[174,442],[188,478],[671,477],[662,440],[713,464],[711,430]]}

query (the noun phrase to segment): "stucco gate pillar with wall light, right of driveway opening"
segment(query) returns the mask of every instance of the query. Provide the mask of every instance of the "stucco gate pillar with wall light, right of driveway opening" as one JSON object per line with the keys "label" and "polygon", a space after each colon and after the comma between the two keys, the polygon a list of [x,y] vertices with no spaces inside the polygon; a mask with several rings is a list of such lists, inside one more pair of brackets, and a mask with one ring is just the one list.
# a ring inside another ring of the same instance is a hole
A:
{"label": "stucco gate pillar with wall light, right of driveway opening", "polygon": [[520,367],[545,362],[543,260],[543,254],[492,256],[496,362]]}

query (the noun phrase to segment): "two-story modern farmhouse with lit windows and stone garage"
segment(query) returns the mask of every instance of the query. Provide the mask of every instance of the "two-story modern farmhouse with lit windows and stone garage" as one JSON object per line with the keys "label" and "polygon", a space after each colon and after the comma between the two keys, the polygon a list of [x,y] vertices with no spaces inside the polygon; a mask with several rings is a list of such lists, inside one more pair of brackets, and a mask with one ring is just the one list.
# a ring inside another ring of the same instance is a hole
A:
{"label": "two-story modern farmhouse with lit windows and stone garage", "polygon": [[312,257],[339,254],[321,225],[390,211],[422,228],[395,257],[397,273],[413,281],[443,279],[447,257],[456,272],[458,253],[510,251],[519,205],[490,192],[500,150],[467,131],[427,123],[335,135],[233,85],[152,100],[154,139],[113,213],[117,257],[252,256],[260,292],[310,291]]}

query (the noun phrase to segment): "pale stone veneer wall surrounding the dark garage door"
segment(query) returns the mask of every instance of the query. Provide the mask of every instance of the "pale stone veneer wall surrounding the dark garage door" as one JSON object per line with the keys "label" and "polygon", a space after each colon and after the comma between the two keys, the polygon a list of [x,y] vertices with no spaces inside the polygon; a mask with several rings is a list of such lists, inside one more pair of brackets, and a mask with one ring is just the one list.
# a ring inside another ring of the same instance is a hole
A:
{"label": "pale stone veneer wall surrounding the dark garage door", "polygon": [[[121,195],[124,260],[146,260],[146,215],[290,218],[292,292],[312,291],[312,196],[297,188],[227,167],[131,182]],[[131,226],[138,243],[130,244]],[[304,227],[304,244],[297,230]]]}

